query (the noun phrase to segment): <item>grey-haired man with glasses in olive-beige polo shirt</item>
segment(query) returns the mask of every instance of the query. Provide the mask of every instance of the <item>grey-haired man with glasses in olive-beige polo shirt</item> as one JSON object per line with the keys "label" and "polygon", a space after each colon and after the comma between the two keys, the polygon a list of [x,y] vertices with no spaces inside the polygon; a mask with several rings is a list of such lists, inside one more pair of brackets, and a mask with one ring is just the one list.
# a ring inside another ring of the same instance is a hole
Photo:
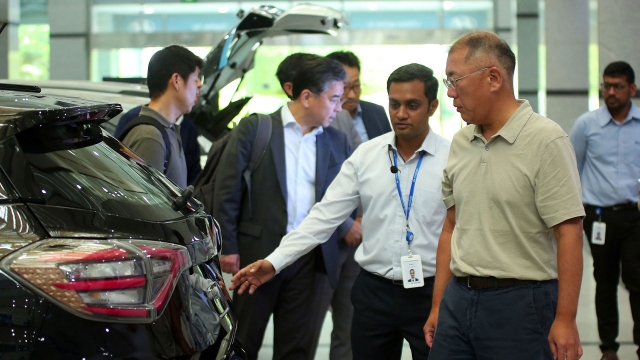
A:
{"label": "grey-haired man with glasses in olive-beige polo shirt", "polygon": [[430,360],[582,355],[575,155],[556,123],[515,98],[515,60],[488,32],[463,36],[447,58],[447,95],[470,125],[454,136],[443,176]]}

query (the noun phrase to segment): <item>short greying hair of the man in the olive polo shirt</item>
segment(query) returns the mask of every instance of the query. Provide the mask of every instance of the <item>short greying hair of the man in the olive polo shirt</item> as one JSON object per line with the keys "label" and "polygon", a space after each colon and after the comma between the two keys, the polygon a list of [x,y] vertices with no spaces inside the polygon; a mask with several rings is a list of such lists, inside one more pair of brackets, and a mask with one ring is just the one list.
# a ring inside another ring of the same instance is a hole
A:
{"label": "short greying hair of the man in the olive polo shirt", "polygon": [[500,66],[507,71],[507,75],[513,82],[513,75],[516,71],[516,55],[504,39],[488,31],[474,31],[458,39],[451,46],[449,52],[458,50],[461,46],[469,49],[465,57],[466,61],[480,54],[495,56]]}

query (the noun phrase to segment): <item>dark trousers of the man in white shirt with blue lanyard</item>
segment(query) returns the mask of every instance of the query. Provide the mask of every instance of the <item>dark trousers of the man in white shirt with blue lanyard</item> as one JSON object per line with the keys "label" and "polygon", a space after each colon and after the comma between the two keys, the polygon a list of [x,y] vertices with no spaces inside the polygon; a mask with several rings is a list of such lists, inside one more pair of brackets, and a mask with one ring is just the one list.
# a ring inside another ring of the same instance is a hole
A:
{"label": "dark trousers of the man in white shirt with blue lanyard", "polygon": [[431,311],[433,278],[423,287],[405,289],[391,280],[361,270],[351,289],[354,360],[394,360],[402,356],[403,339],[413,360],[429,356],[422,328]]}

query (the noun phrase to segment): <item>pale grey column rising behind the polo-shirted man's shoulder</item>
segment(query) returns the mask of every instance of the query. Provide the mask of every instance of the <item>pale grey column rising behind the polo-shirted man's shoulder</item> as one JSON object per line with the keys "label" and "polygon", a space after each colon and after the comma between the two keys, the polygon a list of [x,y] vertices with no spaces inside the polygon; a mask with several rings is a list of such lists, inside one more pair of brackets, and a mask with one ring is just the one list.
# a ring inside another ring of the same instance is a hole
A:
{"label": "pale grey column rising behind the polo-shirted man's shoulder", "polygon": [[547,117],[570,132],[589,110],[589,1],[549,0],[544,14]]}

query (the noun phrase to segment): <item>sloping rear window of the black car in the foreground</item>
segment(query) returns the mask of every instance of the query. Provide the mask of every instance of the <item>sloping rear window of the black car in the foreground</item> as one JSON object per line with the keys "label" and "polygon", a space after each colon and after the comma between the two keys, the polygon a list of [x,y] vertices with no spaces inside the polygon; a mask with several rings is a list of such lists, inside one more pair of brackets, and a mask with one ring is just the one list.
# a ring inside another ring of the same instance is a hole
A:
{"label": "sloping rear window of the black car in the foreground", "polygon": [[96,124],[28,130],[16,138],[28,170],[21,172],[26,183],[16,184],[15,171],[10,177],[27,202],[149,221],[184,215],[171,208],[179,188],[152,167],[122,156],[121,144],[104,138],[111,140],[109,146]]}

